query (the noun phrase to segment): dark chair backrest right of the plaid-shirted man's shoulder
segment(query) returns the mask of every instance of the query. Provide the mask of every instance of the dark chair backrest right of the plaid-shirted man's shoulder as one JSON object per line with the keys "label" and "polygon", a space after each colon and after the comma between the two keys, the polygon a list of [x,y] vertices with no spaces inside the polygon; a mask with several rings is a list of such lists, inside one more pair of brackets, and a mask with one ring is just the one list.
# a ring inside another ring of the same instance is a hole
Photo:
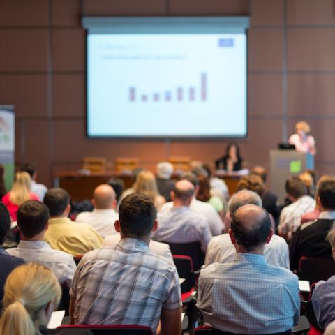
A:
{"label": "dark chair backrest right of the plaid-shirted man's shoulder", "polygon": [[200,242],[191,243],[170,243],[165,242],[170,246],[172,255],[189,256],[193,262],[193,269],[197,271],[204,264],[204,253],[202,253]]}

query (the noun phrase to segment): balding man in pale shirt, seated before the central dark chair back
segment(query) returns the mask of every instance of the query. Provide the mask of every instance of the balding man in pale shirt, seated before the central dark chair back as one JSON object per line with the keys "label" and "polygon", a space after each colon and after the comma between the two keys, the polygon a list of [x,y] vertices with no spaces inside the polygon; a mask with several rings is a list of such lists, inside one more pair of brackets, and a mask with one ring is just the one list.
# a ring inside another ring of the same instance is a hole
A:
{"label": "balding man in pale shirt, seated before the central dark chair back", "polygon": [[194,186],[188,180],[180,180],[171,192],[173,207],[158,213],[158,229],[152,239],[170,243],[200,242],[206,253],[211,231],[203,214],[190,210]]}

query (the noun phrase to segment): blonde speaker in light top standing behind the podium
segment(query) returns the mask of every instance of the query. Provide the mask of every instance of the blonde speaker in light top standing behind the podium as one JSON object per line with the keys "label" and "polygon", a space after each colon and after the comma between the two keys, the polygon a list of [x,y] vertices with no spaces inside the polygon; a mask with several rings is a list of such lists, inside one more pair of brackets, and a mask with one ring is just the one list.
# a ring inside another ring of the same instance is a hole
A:
{"label": "blonde speaker in light top standing behind the podium", "polygon": [[295,134],[290,136],[288,142],[295,145],[295,150],[305,154],[316,154],[315,140],[311,133],[311,126],[306,121],[299,121],[295,125]]}

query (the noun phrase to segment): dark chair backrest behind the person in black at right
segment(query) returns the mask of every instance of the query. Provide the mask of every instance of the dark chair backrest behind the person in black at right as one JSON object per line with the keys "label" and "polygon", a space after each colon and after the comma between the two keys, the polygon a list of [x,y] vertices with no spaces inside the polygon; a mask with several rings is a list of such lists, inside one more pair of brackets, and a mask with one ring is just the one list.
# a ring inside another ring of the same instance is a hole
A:
{"label": "dark chair backrest behind the person in black at right", "polygon": [[335,262],[332,258],[301,257],[299,262],[299,279],[315,283],[327,281],[335,274]]}

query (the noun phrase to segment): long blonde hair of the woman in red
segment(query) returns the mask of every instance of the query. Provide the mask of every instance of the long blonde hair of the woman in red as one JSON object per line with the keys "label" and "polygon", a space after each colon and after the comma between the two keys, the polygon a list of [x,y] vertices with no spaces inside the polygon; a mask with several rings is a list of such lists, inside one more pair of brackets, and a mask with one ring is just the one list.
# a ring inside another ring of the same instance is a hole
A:
{"label": "long blonde hair of the woman in red", "polygon": [[27,172],[16,172],[15,181],[10,190],[9,200],[17,206],[21,206],[25,201],[31,200],[31,177]]}

